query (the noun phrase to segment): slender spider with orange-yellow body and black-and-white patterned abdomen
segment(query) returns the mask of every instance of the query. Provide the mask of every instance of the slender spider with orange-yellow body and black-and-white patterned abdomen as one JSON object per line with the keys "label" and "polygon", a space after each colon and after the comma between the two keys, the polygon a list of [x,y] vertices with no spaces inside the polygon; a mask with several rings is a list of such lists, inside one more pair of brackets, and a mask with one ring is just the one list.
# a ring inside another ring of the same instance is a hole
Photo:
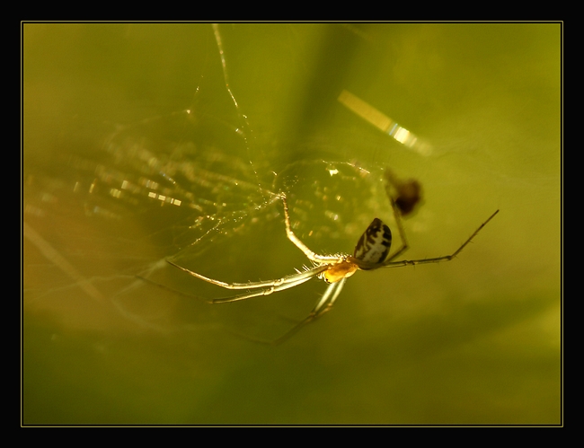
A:
{"label": "slender spider with orange-yellow body and black-and-white patterned abdomen", "polygon": [[266,280],[261,282],[249,282],[249,283],[226,283],[213,278],[205,277],[197,272],[193,272],[190,269],[183,268],[170,259],[167,259],[168,263],[176,268],[183,270],[184,272],[190,274],[192,277],[197,277],[213,285],[221,286],[226,289],[234,290],[248,290],[247,293],[234,295],[232,297],[213,299],[210,303],[231,303],[240,300],[251,299],[252,297],[258,297],[261,295],[269,295],[276,293],[278,291],[283,291],[285,289],[292,288],[297,285],[302,285],[311,278],[318,277],[324,280],[329,286],[326,288],[324,294],[321,296],[319,301],[314,306],[312,312],[305,318],[304,321],[300,321],[292,329],[288,330],[280,338],[272,341],[272,344],[279,344],[286,338],[289,338],[292,334],[296,333],[298,329],[304,327],[307,323],[312,322],[319,317],[321,317],[325,312],[331,310],[332,305],[335,303],[347,278],[355,274],[358,270],[374,270],[378,268],[401,268],[403,266],[414,266],[424,263],[438,263],[441,261],[450,261],[454,259],[466,245],[473,240],[477,233],[479,233],[486,224],[488,224],[491,219],[499,213],[497,210],[489,218],[482,223],[478,229],[453,253],[450,255],[444,255],[441,257],[435,257],[430,259],[395,259],[401,255],[405,250],[409,248],[408,243],[405,238],[405,232],[403,230],[403,224],[401,221],[401,215],[403,212],[400,210],[399,203],[394,200],[392,194],[390,193],[390,182],[385,186],[385,191],[387,197],[389,198],[390,204],[392,206],[395,223],[397,226],[398,233],[402,240],[402,247],[396,250],[391,257],[388,257],[389,250],[392,244],[392,233],[383,221],[379,218],[375,218],[371,224],[367,227],[365,233],[361,235],[353,251],[353,255],[347,254],[336,254],[336,255],[319,255],[310,250],[304,242],[302,242],[296,234],[292,231],[292,226],[290,224],[290,215],[288,212],[288,200],[284,193],[279,194],[279,198],[282,200],[284,207],[284,222],[286,224],[286,234],[288,240],[299,249],[302,250],[307,259],[309,259],[313,267],[305,268],[303,271],[296,269],[296,274],[289,275],[287,277],[278,278],[276,280]]}

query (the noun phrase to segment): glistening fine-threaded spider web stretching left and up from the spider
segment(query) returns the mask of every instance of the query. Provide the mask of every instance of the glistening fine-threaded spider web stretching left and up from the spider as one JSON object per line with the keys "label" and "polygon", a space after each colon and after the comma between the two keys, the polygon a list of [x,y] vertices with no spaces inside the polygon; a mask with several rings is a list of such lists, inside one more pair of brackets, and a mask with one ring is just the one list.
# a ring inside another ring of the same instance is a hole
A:
{"label": "glistening fine-threaded spider web stretching left and up from the spider", "polygon": [[[232,67],[229,55],[237,55],[237,45],[224,30],[200,31],[205,62],[199,76],[190,76],[198,83],[183,95],[190,98],[188,108],[106,122],[100,132],[91,124],[90,138],[75,122],[66,151],[59,148],[50,163],[35,159],[29,165],[27,306],[60,309],[69,324],[87,325],[93,316],[79,319],[71,311],[82,306],[79,294],[85,294],[122,317],[123,325],[191,329],[196,314],[201,328],[206,316],[217,323],[217,307],[175,291],[199,299],[226,292],[184,276],[164,259],[240,283],[302,268],[308,261],[286,239],[280,192],[288,196],[295,232],[320,253],[352,253],[373,217],[387,219],[384,163],[370,163],[370,150],[359,153],[364,163],[347,156],[359,146],[351,132],[354,117],[331,95],[331,119],[316,125],[312,117],[295,123],[295,131],[286,126],[272,134],[270,123],[279,122],[270,122],[261,110],[265,104],[249,101],[250,92],[230,84],[239,67]],[[306,291],[312,303],[323,285]],[[279,295],[286,294],[295,293]],[[183,307],[189,310],[184,320],[177,318]],[[245,321],[241,307],[234,313],[236,321]],[[251,313],[251,321],[261,319],[257,310]]]}

